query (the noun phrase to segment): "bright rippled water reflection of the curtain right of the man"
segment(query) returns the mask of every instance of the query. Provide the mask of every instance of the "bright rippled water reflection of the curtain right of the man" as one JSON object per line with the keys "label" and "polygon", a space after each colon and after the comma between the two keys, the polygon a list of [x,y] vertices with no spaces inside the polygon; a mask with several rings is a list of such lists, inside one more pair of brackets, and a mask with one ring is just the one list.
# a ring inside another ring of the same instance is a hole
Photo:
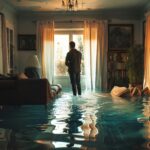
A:
{"label": "bright rippled water reflection of the curtain right of the man", "polygon": [[[98,105],[99,95],[88,94],[83,97],[85,99],[85,103],[82,104],[83,112],[83,124],[81,129],[83,131],[84,141],[87,143],[91,143],[89,145],[83,144],[81,150],[96,150],[97,135],[99,134],[97,128],[97,112],[100,109]],[[102,96],[103,97],[103,96]],[[100,116],[99,116],[100,117]]]}

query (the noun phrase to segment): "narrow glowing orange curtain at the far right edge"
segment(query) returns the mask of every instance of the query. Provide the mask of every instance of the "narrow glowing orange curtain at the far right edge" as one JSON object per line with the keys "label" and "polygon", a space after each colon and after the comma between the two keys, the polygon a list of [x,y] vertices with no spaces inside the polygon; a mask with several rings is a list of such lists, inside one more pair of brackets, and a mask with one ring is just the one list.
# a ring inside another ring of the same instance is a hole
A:
{"label": "narrow glowing orange curtain at the far right edge", "polygon": [[146,18],[143,86],[150,89],[150,15]]}

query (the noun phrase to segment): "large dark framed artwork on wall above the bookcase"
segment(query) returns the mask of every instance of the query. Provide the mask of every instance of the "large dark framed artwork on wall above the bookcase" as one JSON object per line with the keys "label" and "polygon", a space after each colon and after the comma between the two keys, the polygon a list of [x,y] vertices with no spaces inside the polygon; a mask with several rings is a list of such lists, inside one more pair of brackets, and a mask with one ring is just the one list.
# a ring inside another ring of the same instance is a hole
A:
{"label": "large dark framed artwork on wall above the bookcase", "polygon": [[126,51],[133,45],[133,24],[108,25],[108,49]]}

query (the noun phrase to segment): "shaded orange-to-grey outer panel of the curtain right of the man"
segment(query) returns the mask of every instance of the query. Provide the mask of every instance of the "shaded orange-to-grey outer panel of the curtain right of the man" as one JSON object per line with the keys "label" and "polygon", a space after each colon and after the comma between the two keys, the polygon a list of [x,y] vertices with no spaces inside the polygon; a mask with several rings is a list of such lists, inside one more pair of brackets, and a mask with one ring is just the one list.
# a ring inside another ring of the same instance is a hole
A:
{"label": "shaded orange-to-grey outer panel of the curtain right of the man", "polygon": [[96,88],[107,90],[107,50],[108,50],[107,21],[99,21],[96,55]]}

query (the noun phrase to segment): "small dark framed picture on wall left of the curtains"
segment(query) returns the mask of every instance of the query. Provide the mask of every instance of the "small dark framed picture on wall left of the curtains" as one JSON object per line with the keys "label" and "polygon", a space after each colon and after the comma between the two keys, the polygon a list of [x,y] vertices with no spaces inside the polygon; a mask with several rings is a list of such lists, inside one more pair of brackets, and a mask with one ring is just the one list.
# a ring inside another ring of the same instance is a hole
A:
{"label": "small dark framed picture on wall left of the curtains", "polygon": [[18,50],[35,51],[36,50],[36,35],[35,34],[19,34],[18,35]]}

